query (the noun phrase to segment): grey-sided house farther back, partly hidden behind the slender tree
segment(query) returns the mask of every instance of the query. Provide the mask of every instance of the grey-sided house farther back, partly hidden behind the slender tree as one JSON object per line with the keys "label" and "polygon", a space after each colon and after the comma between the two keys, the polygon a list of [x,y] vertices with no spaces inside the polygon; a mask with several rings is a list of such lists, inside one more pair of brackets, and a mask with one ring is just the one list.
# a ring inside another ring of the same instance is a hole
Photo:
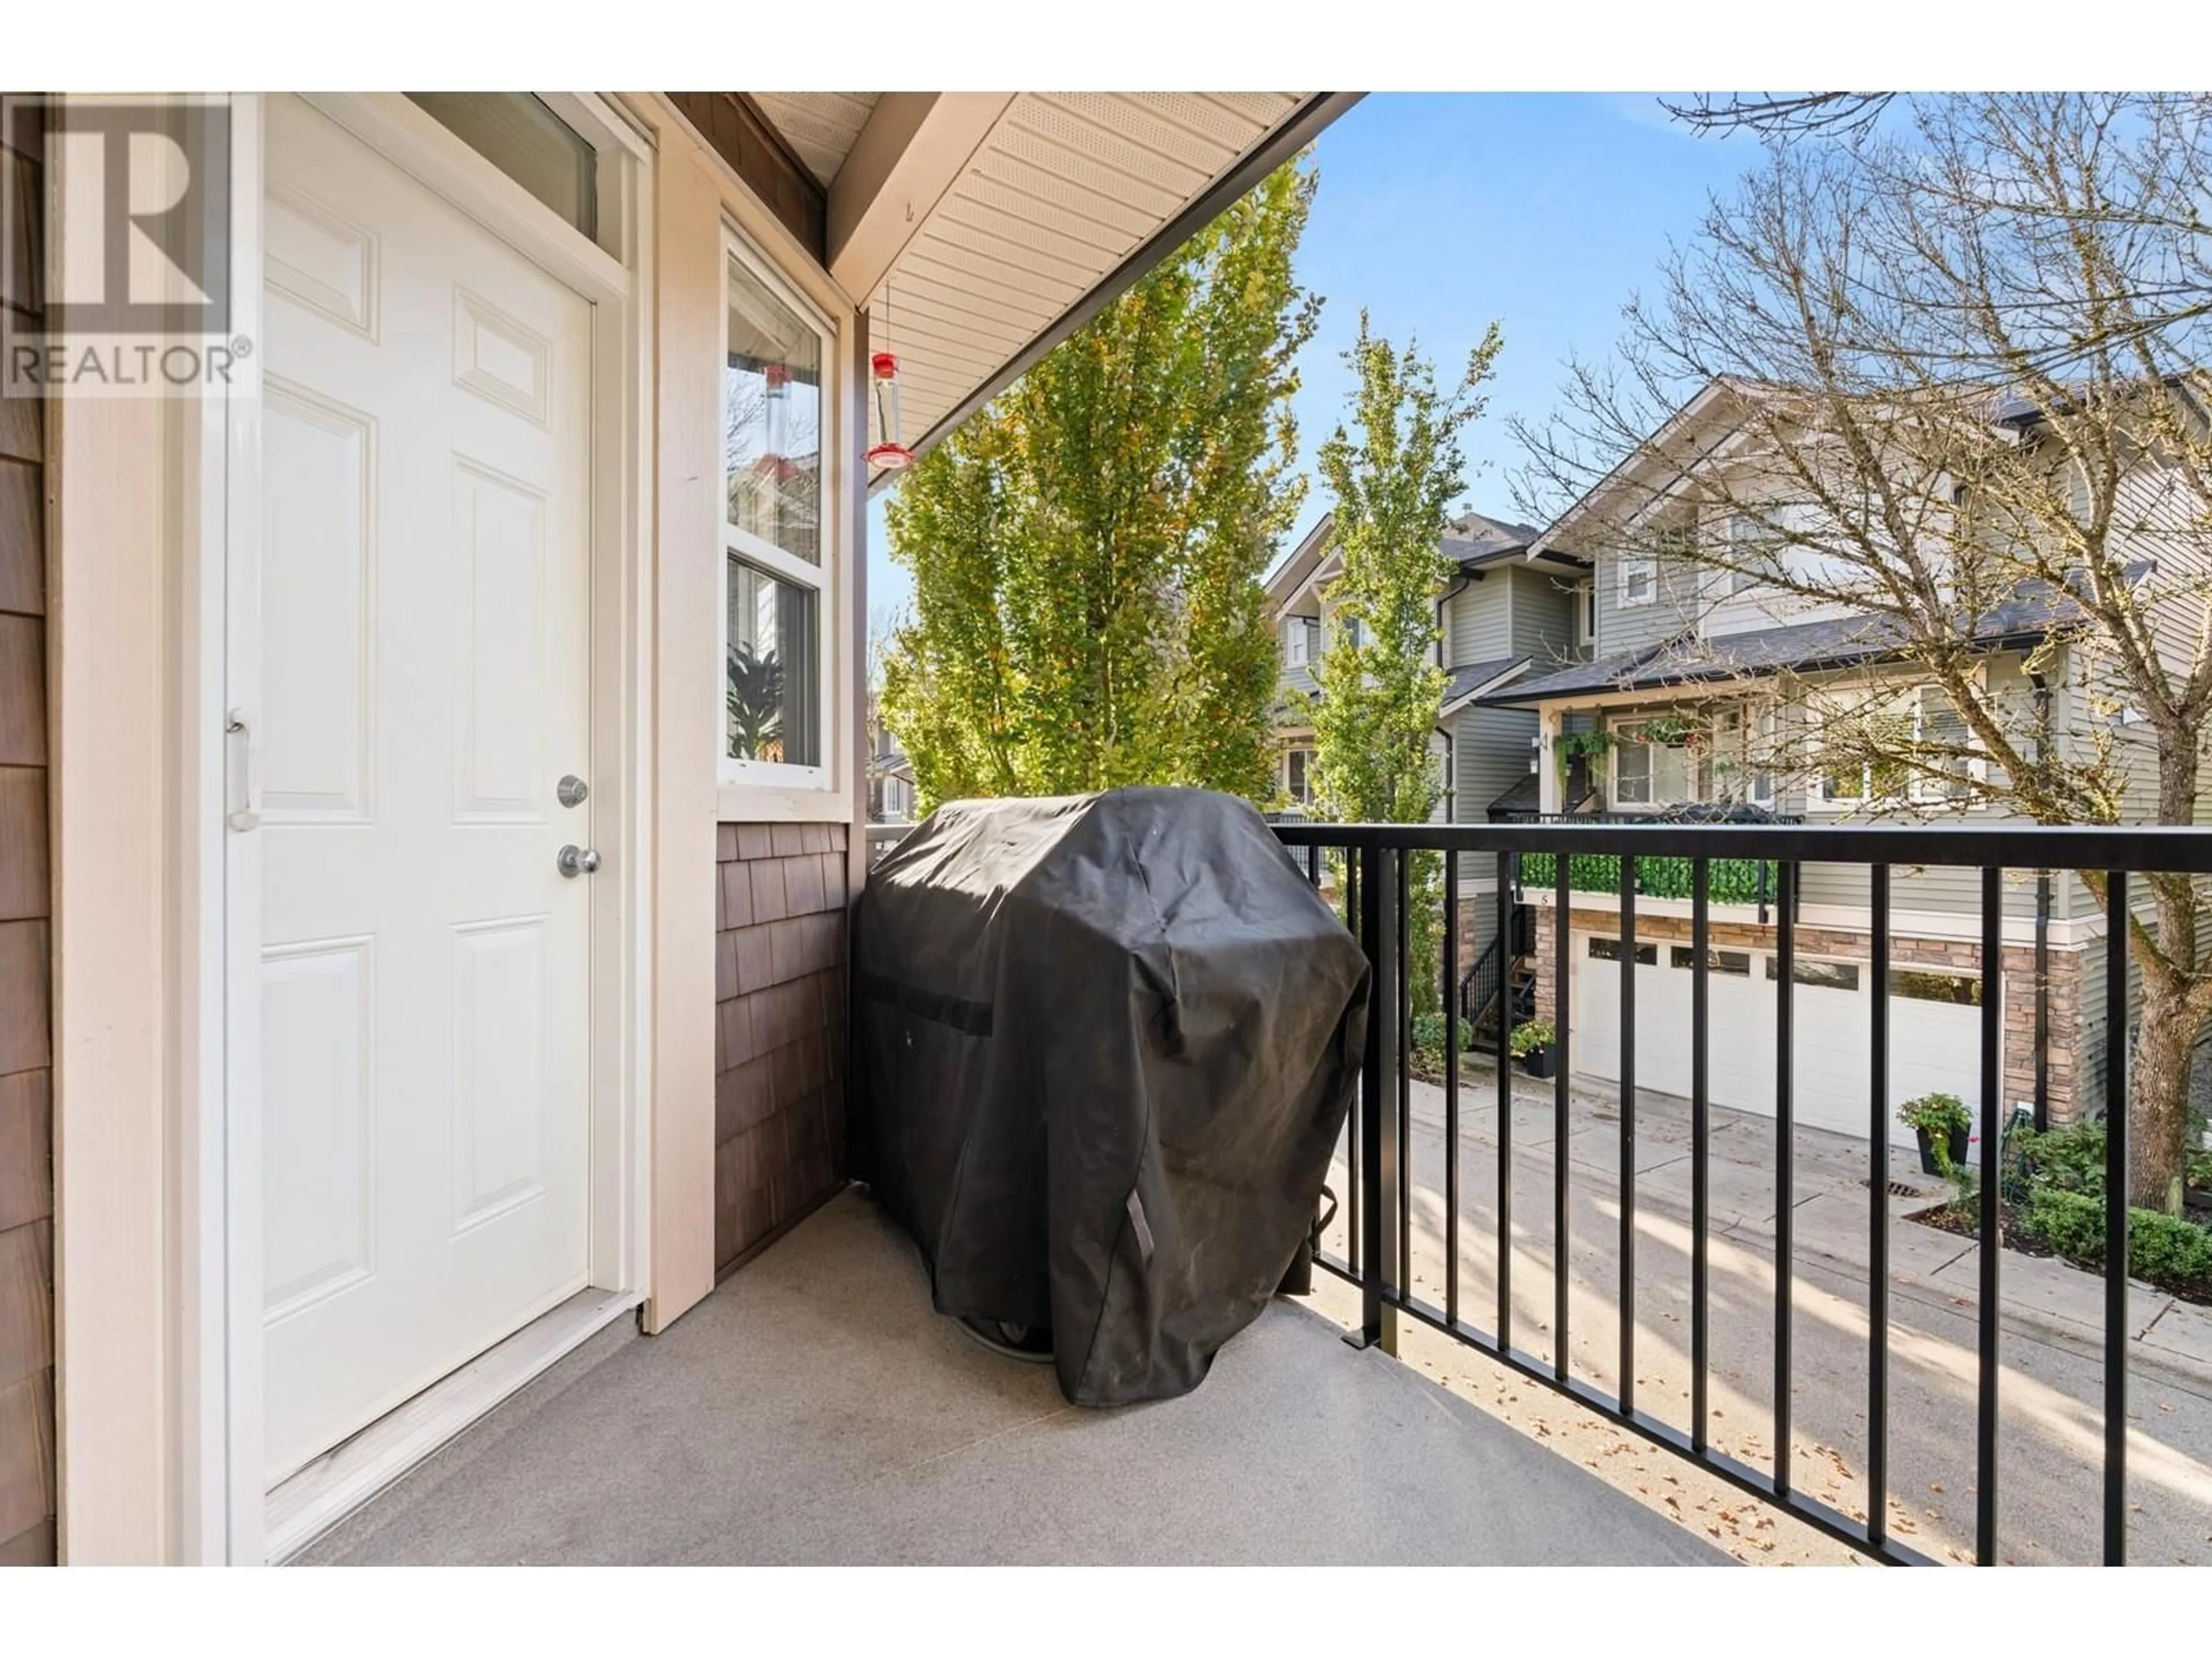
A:
{"label": "grey-sided house farther back, partly hidden behind the slender tree", "polygon": [[[1323,518],[1267,580],[1267,611],[1283,650],[1276,741],[1281,799],[1290,812],[1303,812],[1312,799],[1307,699],[1318,697],[1316,668],[1338,626],[1329,582],[1343,562],[1329,546],[1329,531],[1332,520]],[[1440,542],[1453,573],[1436,591],[1433,659],[1449,672],[1431,743],[1442,774],[1438,823],[1522,816],[1537,805],[1537,717],[1486,699],[1588,653],[1590,568],[1566,551],[1533,553],[1535,538],[1526,524],[1464,513]],[[1484,1015],[1498,993],[1495,896],[1495,869],[1460,872],[1455,978],[1473,973],[1464,987],[1464,1011],[1473,1018]]]}

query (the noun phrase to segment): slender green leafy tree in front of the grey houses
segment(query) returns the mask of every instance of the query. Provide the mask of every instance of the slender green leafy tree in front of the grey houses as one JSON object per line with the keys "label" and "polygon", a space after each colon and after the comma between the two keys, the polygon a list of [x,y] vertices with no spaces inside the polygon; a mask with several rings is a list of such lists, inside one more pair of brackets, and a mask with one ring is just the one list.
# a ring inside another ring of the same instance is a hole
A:
{"label": "slender green leafy tree in front of the grey houses", "polygon": [[[1482,414],[1482,385],[1504,336],[1493,323],[1447,394],[1411,345],[1367,332],[1347,363],[1358,374],[1352,420],[1321,445],[1321,478],[1336,498],[1332,544],[1343,573],[1323,593],[1332,644],[1314,675],[1314,796],[1327,818],[1427,823],[1442,799],[1429,741],[1444,706],[1436,664],[1436,597],[1451,577],[1442,555],[1451,502],[1467,487],[1460,429]],[[1354,628],[1356,624],[1356,628]],[[1440,860],[1411,872],[1413,1006],[1436,1006],[1442,936]]]}

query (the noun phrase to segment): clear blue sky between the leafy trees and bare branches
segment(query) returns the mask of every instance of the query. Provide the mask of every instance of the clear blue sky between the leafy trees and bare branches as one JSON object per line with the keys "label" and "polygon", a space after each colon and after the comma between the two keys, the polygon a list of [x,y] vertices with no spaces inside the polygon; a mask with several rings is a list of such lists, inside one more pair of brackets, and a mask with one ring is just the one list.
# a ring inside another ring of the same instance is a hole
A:
{"label": "clear blue sky between the leafy trees and bare branches", "polygon": [[[1513,515],[1517,465],[1506,416],[1555,407],[1564,361],[1601,356],[1621,303],[1652,285],[1670,239],[1697,228],[1708,192],[1756,150],[1697,137],[1655,95],[1371,93],[1314,144],[1321,192],[1298,246],[1298,279],[1323,294],[1296,400],[1301,462],[1345,411],[1340,352],[1369,325],[1416,336],[1455,378],[1498,319],[1506,347],[1489,414],[1464,431],[1464,504]],[[1329,509],[1310,491],[1298,533]],[[1285,542],[1287,546],[1287,542]],[[869,511],[869,608],[911,597],[891,564],[883,498]]]}

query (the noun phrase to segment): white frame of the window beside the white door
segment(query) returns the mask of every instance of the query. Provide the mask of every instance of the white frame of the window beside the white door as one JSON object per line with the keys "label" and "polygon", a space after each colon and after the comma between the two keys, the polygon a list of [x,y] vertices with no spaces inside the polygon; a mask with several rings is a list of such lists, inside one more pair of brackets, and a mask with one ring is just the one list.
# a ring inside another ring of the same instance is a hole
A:
{"label": "white frame of the window beside the white door", "polygon": [[[717,542],[719,566],[714,575],[714,776],[723,785],[750,787],[750,790],[785,790],[805,794],[836,794],[838,754],[841,737],[845,732],[843,721],[843,697],[838,684],[838,586],[843,573],[838,571],[838,555],[843,551],[843,538],[838,529],[843,524],[843,502],[841,482],[843,469],[838,467],[838,442],[843,434],[838,429],[838,332],[836,325],[823,316],[823,312],[807,301],[783,274],[754,248],[737,226],[723,221],[721,226],[721,248],[723,265],[719,272],[721,290],[721,325],[717,330],[719,356],[714,363],[714,520],[721,526],[721,540]],[[801,323],[814,330],[816,341],[821,341],[821,465],[816,480],[821,484],[821,509],[818,509],[818,549],[821,564],[807,564],[794,553],[785,553],[774,542],[754,535],[752,531],[739,529],[730,522],[730,473],[728,456],[723,453],[723,434],[730,429],[730,261],[737,261],[752,274],[776,301],[792,310]],[[821,732],[821,761],[816,765],[796,765],[790,761],[741,761],[730,754],[730,555],[745,560],[745,564],[757,571],[776,577],[796,588],[807,588],[814,593],[814,710],[816,728]]]}

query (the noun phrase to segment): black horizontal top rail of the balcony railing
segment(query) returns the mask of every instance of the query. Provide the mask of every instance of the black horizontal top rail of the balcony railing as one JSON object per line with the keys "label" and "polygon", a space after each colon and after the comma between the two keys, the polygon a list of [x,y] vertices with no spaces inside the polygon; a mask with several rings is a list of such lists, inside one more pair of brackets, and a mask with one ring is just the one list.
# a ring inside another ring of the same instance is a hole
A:
{"label": "black horizontal top rail of the balcony railing", "polygon": [[2152,869],[2212,874],[2212,830],[2185,825],[1871,823],[1276,823],[1285,847],[1772,858],[1803,865]]}

